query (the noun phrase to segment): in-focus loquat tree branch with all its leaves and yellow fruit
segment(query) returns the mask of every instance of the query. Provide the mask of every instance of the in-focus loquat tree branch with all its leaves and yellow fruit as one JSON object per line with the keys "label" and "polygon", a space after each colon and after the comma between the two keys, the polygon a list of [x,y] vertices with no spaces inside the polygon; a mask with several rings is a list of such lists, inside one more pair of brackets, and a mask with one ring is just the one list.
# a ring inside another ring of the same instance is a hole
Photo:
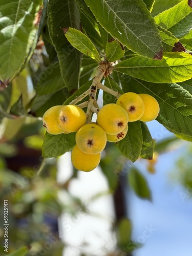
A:
{"label": "in-focus loquat tree branch with all its leaves and yellow fruit", "polygon": [[153,159],[147,121],[192,141],[192,1],[161,2],[2,0],[2,123],[42,120],[42,156],[85,172],[107,141]]}

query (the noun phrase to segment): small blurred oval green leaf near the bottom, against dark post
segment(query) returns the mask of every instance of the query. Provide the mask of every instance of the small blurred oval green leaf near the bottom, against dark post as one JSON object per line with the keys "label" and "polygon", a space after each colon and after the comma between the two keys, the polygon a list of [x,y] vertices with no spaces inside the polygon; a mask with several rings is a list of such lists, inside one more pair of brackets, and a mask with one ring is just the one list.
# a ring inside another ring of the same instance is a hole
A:
{"label": "small blurred oval green leaf near the bottom, against dark post", "polygon": [[117,243],[120,246],[127,245],[132,236],[132,223],[129,219],[123,218],[117,226]]}

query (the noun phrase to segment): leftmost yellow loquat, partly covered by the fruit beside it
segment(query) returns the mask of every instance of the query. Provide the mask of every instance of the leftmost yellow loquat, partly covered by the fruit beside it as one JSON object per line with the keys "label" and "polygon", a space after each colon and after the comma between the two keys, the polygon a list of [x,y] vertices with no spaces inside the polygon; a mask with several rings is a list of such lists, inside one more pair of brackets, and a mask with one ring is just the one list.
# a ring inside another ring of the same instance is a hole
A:
{"label": "leftmost yellow loquat, partly covered by the fruit beside it", "polygon": [[52,108],[48,109],[44,116],[42,117],[42,122],[44,123],[44,127],[50,134],[61,134],[63,130],[57,124],[57,117],[59,115],[59,110],[62,108],[62,105],[52,106]]}

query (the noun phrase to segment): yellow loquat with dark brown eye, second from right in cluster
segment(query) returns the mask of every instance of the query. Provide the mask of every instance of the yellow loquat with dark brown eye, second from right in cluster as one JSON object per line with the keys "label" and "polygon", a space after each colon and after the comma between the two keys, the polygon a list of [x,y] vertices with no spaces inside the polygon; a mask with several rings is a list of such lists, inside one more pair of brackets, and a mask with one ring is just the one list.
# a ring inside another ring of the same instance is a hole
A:
{"label": "yellow loquat with dark brown eye, second from right in cluster", "polygon": [[129,122],[139,120],[144,113],[144,102],[137,93],[124,93],[118,100],[117,104],[121,105],[129,115]]}

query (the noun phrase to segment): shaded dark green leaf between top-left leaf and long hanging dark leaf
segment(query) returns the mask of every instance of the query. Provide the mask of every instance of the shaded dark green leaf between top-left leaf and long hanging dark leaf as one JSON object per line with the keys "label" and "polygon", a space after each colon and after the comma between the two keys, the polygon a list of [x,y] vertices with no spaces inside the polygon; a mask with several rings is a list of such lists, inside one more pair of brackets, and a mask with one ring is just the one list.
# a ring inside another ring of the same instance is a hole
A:
{"label": "shaded dark green leaf between top-left leaf and long hanging dark leaf", "polygon": [[54,61],[45,71],[39,74],[36,91],[41,96],[57,92],[64,87],[65,83],[60,73],[59,62]]}

